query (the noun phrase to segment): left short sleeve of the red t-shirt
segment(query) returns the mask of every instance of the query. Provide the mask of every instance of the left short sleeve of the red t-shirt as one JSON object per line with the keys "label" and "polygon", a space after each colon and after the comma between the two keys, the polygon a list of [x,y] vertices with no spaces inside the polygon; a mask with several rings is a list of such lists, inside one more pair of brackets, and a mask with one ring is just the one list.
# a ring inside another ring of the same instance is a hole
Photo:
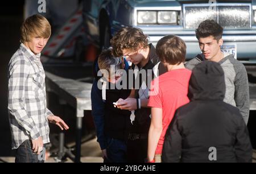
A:
{"label": "left short sleeve of the red t-shirt", "polygon": [[151,81],[149,100],[147,106],[162,108],[162,93],[160,92],[159,83],[156,83],[158,77]]}

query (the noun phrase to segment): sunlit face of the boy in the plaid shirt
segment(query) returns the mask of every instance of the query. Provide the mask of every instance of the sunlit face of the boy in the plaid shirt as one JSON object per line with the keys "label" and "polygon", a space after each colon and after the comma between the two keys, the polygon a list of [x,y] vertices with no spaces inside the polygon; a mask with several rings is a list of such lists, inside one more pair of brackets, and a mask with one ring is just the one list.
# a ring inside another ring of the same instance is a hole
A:
{"label": "sunlit face of the boy in the plaid shirt", "polygon": [[35,55],[40,53],[46,46],[49,38],[42,38],[39,36],[33,37],[29,42],[25,42],[27,48],[29,48]]}

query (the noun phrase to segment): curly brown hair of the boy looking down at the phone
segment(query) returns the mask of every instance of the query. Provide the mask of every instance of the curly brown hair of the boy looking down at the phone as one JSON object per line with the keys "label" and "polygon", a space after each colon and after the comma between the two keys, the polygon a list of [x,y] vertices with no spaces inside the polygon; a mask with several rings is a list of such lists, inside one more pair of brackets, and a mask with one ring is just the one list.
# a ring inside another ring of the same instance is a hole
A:
{"label": "curly brown hair of the boy looking down at the phone", "polygon": [[146,48],[148,39],[141,28],[123,27],[113,36],[110,44],[113,47],[114,56],[122,56],[123,49],[137,51],[139,47]]}

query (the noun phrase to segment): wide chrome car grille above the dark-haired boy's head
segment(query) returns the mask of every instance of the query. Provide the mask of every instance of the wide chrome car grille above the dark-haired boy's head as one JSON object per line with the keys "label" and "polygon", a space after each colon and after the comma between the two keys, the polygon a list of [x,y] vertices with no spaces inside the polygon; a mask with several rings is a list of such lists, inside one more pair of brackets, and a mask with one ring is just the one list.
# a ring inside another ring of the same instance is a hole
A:
{"label": "wide chrome car grille above the dark-haired boy's head", "polygon": [[218,3],[217,8],[209,10],[207,4],[183,6],[184,27],[195,29],[206,19],[213,19],[224,28],[250,28],[250,4],[226,5]]}

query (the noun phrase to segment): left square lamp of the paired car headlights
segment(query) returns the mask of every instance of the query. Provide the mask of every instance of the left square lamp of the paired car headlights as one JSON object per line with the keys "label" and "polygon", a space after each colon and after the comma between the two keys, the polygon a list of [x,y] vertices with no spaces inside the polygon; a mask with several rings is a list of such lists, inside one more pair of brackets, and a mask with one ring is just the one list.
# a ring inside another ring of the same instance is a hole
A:
{"label": "left square lamp of the paired car headlights", "polygon": [[138,23],[152,24],[156,23],[156,11],[138,11]]}

